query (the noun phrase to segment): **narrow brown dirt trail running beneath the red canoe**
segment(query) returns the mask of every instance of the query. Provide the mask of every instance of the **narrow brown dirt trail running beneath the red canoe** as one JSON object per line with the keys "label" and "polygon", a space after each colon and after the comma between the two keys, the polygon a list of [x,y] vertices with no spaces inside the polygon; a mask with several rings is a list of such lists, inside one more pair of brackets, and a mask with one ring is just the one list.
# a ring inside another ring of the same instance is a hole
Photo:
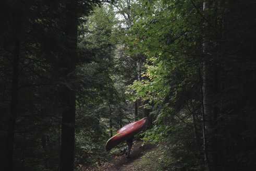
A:
{"label": "narrow brown dirt trail running beneath the red canoe", "polygon": [[116,156],[113,158],[111,163],[108,167],[105,167],[103,170],[105,171],[133,171],[136,170],[134,165],[139,164],[141,157],[145,152],[153,151],[157,147],[156,145],[152,144],[144,144],[141,146],[142,141],[137,141],[135,144],[132,145],[130,158],[126,158],[125,155]]}

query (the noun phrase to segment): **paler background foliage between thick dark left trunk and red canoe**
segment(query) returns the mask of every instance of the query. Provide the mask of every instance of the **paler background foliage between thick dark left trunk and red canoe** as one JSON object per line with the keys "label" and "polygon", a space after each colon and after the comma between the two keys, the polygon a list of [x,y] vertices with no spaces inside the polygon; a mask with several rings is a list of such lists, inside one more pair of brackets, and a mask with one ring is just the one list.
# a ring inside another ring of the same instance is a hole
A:
{"label": "paler background foliage between thick dark left trunk and red canoe", "polygon": [[[76,166],[101,163],[109,153],[105,143],[111,132],[130,119],[127,112],[123,72],[119,70],[120,27],[115,13],[104,4],[86,17],[80,29],[88,31],[79,38],[81,51],[91,50],[92,62],[77,67],[80,82],[77,94]],[[88,30],[87,30],[88,29]],[[118,146],[120,148],[120,146]],[[117,150],[119,151],[119,150]]]}

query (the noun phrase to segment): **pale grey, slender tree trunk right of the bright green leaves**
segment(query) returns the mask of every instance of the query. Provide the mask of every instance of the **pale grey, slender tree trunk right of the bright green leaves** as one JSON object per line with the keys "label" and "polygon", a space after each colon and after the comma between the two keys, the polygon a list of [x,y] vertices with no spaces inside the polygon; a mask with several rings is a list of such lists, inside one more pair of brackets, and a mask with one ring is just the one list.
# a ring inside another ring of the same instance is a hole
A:
{"label": "pale grey, slender tree trunk right of the bright green leaves", "polygon": [[[203,3],[203,10],[208,10],[211,1]],[[209,19],[209,16],[206,16]],[[206,23],[207,21],[205,21]],[[209,24],[209,23],[208,23]],[[206,26],[206,25],[205,25]],[[209,29],[206,26],[204,32],[203,52],[205,56],[210,54]],[[216,138],[215,138],[215,114],[214,114],[214,66],[209,57],[205,57],[203,62],[203,122],[204,122],[204,142],[205,142],[205,163],[210,171],[216,170]]]}

